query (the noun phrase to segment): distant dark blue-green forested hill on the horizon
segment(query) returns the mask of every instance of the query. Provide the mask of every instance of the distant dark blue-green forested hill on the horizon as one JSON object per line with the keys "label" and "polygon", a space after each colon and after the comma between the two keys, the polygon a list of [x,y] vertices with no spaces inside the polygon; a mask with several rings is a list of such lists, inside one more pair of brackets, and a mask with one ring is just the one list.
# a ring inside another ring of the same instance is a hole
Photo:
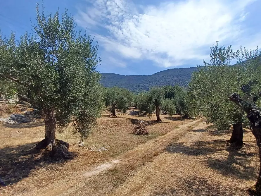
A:
{"label": "distant dark blue-green forested hill on the horizon", "polygon": [[174,68],[154,73],[153,75],[119,75],[115,73],[101,73],[101,84],[104,87],[122,87],[133,92],[149,90],[152,86],[179,85],[186,86],[191,73],[197,67]]}

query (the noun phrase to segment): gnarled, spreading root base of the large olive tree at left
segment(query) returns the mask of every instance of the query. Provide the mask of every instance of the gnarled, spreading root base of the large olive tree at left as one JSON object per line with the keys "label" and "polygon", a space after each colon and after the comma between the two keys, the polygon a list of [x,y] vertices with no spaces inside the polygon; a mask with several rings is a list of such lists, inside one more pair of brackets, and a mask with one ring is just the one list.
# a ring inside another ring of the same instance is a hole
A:
{"label": "gnarled, spreading root base of the large olive tree at left", "polygon": [[58,139],[55,139],[55,142],[48,144],[46,142],[46,139],[44,139],[41,142],[37,143],[35,148],[37,150],[44,149],[44,158],[51,158],[56,161],[62,159],[73,159],[75,156],[77,156],[76,154],[73,154],[72,152],[68,151],[68,142],[64,142]]}

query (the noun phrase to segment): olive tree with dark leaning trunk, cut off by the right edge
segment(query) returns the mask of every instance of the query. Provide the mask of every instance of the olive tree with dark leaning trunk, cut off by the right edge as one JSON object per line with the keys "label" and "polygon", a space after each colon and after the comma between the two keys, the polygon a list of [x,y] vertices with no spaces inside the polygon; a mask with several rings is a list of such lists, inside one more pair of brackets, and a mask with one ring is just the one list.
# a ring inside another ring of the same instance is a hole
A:
{"label": "olive tree with dark leaning trunk, cut off by the right edge", "polygon": [[[229,98],[247,114],[261,161],[261,52],[258,51],[258,48],[250,52],[242,47],[240,50],[241,58],[238,63],[241,63],[244,68],[241,77],[244,85],[241,86],[240,90],[232,93]],[[242,85],[242,82],[239,82],[239,85]],[[261,195],[261,162],[257,182],[250,188],[250,192]]]}

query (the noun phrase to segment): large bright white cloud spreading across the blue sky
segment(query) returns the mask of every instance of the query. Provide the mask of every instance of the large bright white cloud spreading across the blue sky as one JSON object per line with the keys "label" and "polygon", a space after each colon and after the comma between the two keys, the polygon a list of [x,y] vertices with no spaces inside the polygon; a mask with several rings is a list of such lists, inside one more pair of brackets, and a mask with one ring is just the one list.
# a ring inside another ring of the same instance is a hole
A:
{"label": "large bright white cloud spreading across the blue sky", "polygon": [[138,5],[127,0],[96,0],[91,1],[93,8],[79,11],[77,21],[89,27],[103,25],[110,37],[96,38],[106,51],[167,68],[208,58],[206,48],[216,40],[240,39],[246,6],[253,1],[186,0],[147,6],[138,13]]}

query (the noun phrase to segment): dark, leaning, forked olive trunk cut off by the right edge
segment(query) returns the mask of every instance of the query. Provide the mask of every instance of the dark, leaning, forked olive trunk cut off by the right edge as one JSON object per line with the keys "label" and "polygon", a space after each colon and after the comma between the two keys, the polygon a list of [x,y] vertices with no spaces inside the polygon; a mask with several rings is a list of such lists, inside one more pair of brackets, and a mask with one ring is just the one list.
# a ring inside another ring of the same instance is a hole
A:
{"label": "dark, leaning, forked olive trunk cut off by the right edge", "polygon": [[[259,92],[257,99],[259,97],[261,97],[261,92]],[[244,111],[247,113],[247,117],[252,127],[252,133],[255,136],[257,142],[257,146],[259,150],[259,161],[260,161],[259,174],[257,177],[257,182],[252,188],[249,189],[249,191],[255,192],[257,193],[257,195],[261,195],[261,112],[257,108],[254,102],[251,103],[248,101],[243,101],[239,96],[239,94],[237,94],[236,92],[231,94],[229,98],[235,104],[237,104],[242,109],[244,109]]]}

